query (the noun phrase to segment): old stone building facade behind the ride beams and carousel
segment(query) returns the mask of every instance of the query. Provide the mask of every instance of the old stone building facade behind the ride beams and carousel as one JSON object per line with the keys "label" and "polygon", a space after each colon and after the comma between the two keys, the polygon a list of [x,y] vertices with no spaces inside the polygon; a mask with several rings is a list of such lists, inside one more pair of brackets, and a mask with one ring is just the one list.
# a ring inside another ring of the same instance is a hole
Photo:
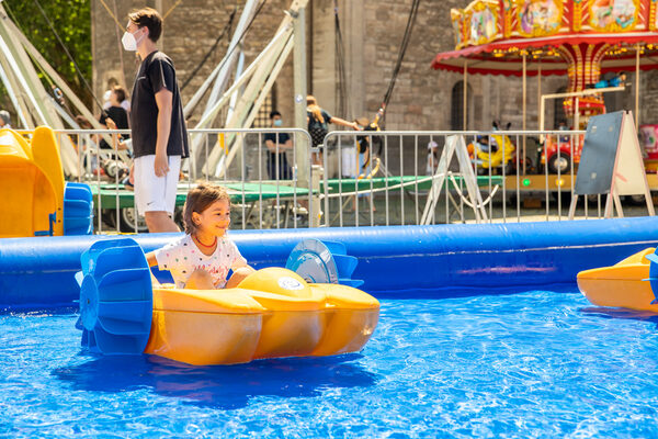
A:
{"label": "old stone building facade behind the ride beams and carousel", "polygon": [[[243,1],[237,2],[239,7]],[[112,15],[125,25],[131,9],[150,5],[168,13],[160,47],[174,60],[179,81],[188,81],[192,71],[208,54],[217,35],[225,27],[235,0],[114,0],[92,3],[93,85],[102,95],[110,78],[132,88],[137,61],[121,49],[123,31]],[[254,20],[245,40],[245,54],[250,63],[274,35],[290,0],[270,0]],[[432,70],[433,57],[454,48],[450,22],[451,8],[464,8],[467,0],[433,0],[420,3],[413,34],[398,76],[386,116],[388,130],[451,130],[461,121],[462,98],[460,74]],[[309,0],[307,18],[307,82],[308,92],[318,98],[321,106],[344,119],[374,116],[388,88],[398,56],[410,1],[338,0],[338,22],[343,38],[345,83],[338,83],[340,58],[337,56],[337,29],[333,0]],[[239,14],[240,10],[238,10]],[[239,15],[236,15],[237,23]],[[235,29],[235,26],[234,26]],[[223,58],[229,36],[222,40],[183,90],[183,101],[190,99],[212,69]],[[123,67],[123,68],[122,68]],[[643,72],[640,77],[640,120],[658,123],[658,74]],[[629,75],[634,85],[634,77]],[[522,93],[520,78],[499,76],[468,77],[468,125],[470,130],[488,130],[492,120],[522,126]],[[541,91],[564,90],[566,77],[544,77]],[[283,68],[273,92],[273,104],[287,121],[293,120],[293,60]],[[611,97],[609,110],[634,109],[634,87],[621,95]],[[341,98],[339,90],[344,90]],[[538,83],[527,80],[526,127],[537,128]],[[553,128],[558,115],[556,105],[546,111],[546,127]],[[344,114],[340,114],[340,113]],[[191,119],[194,124],[196,116]],[[460,122],[461,123],[461,122]],[[220,121],[218,121],[220,124]]]}

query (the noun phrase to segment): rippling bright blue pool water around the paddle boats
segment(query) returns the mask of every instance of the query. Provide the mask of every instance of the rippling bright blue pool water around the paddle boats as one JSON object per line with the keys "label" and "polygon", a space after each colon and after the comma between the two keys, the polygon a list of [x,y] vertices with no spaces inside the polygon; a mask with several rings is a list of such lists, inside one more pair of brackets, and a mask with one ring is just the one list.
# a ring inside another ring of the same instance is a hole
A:
{"label": "rippling bright blue pool water around the paddle boats", "polygon": [[232,367],[92,357],[75,320],[0,315],[0,437],[658,436],[657,320],[574,292],[384,300],[360,353]]}

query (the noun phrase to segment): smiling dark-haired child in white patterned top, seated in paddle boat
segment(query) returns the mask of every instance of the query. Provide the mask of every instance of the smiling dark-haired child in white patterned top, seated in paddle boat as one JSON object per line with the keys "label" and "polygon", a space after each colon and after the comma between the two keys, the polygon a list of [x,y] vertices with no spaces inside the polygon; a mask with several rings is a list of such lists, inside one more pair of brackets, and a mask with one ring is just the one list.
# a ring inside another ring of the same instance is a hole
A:
{"label": "smiling dark-haired child in white patterned top, seated in paddle boat", "polygon": [[[171,271],[177,288],[235,288],[254,271],[226,236],[230,225],[226,189],[211,184],[192,189],[183,207],[183,222],[184,237],[146,255],[150,267]],[[234,273],[227,282],[229,269]]]}

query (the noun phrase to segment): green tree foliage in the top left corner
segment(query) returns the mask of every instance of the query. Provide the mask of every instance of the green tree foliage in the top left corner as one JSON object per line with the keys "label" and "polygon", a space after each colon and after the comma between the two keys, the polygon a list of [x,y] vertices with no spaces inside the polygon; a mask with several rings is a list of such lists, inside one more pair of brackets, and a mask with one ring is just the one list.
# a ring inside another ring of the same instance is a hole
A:
{"label": "green tree foliage in the top left corner", "polygon": [[[2,2],[9,16],[23,34],[88,105],[92,100],[84,85],[84,80],[91,85],[90,4],[90,0],[3,0]],[[59,43],[48,21],[72,56],[75,64]]]}

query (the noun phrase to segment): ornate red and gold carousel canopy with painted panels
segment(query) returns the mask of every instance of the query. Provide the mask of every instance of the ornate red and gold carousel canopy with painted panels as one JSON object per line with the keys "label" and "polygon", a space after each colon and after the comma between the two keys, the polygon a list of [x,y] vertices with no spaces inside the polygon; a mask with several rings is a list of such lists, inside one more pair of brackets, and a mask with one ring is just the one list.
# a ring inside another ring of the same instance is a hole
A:
{"label": "ornate red and gold carousel canopy with painted panels", "polygon": [[476,0],[451,11],[456,49],[434,69],[522,76],[566,75],[560,47],[609,44],[601,72],[658,68],[658,11],[651,0]]}

